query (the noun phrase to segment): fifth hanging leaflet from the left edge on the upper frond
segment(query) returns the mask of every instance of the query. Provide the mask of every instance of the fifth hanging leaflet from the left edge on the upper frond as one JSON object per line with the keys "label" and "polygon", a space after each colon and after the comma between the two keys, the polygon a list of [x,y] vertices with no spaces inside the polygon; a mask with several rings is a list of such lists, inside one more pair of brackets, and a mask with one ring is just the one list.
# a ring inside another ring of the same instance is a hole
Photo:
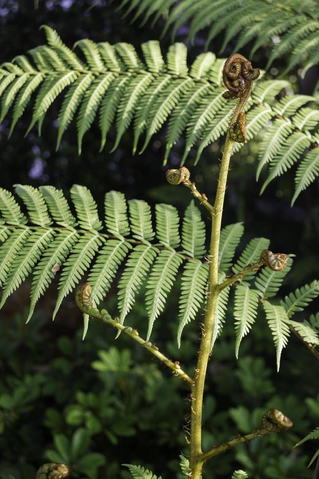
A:
{"label": "fifth hanging leaflet from the left edge on the upper frond", "polygon": [[57,139],[57,150],[60,146],[60,141],[64,131],[66,130],[67,126],[73,120],[73,117],[81,104],[83,96],[90,87],[91,83],[94,80],[94,76],[92,73],[87,73],[86,75],[80,76],[69,89],[65,98],[63,100],[59,116],[58,116],[58,123],[59,123],[59,131],[58,131],[58,139]]}

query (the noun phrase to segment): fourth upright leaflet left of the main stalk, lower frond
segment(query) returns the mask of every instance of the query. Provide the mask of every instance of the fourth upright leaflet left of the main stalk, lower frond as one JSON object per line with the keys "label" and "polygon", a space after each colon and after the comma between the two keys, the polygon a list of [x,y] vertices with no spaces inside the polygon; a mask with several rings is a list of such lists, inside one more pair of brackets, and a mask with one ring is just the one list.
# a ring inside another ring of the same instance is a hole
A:
{"label": "fourth upright leaflet left of the main stalk, lower frond", "polygon": [[107,231],[115,236],[127,236],[130,227],[127,218],[125,196],[118,191],[109,191],[104,201],[105,225]]}

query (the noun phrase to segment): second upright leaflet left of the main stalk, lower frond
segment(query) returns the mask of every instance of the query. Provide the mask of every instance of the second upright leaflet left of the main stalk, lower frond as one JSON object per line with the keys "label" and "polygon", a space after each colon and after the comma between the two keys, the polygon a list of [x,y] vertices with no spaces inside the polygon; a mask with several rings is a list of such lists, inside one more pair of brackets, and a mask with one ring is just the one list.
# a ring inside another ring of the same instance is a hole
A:
{"label": "second upright leaflet left of the main stalk, lower frond", "polygon": [[179,245],[179,214],[172,205],[157,204],[156,213],[156,236],[163,246],[176,248]]}

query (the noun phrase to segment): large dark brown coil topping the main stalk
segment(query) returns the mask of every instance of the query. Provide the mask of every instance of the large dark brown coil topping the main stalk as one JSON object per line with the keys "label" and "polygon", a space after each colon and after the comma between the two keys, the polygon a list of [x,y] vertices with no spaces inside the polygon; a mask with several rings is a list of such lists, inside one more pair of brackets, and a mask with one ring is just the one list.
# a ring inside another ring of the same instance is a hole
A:
{"label": "large dark brown coil topping the main stalk", "polygon": [[240,55],[240,53],[233,53],[227,58],[222,70],[222,79],[225,87],[232,92],[225,92],[223,97],[226,99],[236,98],[240,96],[251,82],[256,80],[260,75],[257,68],[253,68],[252,64]]}

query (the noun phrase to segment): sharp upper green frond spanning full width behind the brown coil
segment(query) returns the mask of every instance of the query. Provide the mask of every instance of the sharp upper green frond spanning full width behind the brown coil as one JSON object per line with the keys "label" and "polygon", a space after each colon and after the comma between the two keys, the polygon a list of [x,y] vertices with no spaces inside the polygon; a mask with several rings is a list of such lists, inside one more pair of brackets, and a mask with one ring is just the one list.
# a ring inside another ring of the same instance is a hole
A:
{"label": "sharp upper green frond spanning full width behind the brown coil", "polygon": [[[111,152],[130,125],[135,153],[143,152],[154,134],[167,124],[164,163],[177,141],[185,138],[181,163],[197,146],[196,164],[203,150],[227,130],[231,108],[223,97],[225,59],[207,52],[188,66],[186,46],[176,43],[169,47],[165,62],[159,42],[150,41],[141,45],[143,62],[131,44],[95,44],[88,39],[75,45],[83,59],[63,44],[57,32],[48,26],[42,28],[47,45],[30,50],[29,57],[19,55],[0,66],[0,121],[12,109],[10,134],[31,104],[33,115],[26,134],[36,124],[40,134],[48,109],[59,96],[63,101],[57,148],[64,131],[76,122],[79,153],[83,136],[95,118],[101,133],[100,150],[115,125]],[[245,106],[245,139],[263,133],[257,179],[267,165],[269,171],[261,193],[298,162],[294,203],[319,174],[319,110],[305,106],[317,104],[318,98],[287,93],[278,102],[276,97],[284,89],[290,89],[289,82],[257,82]],[[237,143],[233,151],[242,146],[243,142]]]}

